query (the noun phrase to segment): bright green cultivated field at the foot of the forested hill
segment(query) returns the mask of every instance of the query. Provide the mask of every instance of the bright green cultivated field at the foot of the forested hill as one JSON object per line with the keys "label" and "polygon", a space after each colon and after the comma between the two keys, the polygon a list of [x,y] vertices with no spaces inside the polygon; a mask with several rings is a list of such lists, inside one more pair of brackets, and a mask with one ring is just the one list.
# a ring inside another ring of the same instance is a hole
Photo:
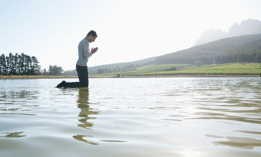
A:
{"label": "bright green cultivated field at the foot of the forested hill", "polygon": [[[166,68],[176,67],[177,71],[165,71]],[[259,76],[260,64],[257,63],[228,63],[204,65],[201,67],[187,64],[148,65],[135,71],[121,72],[122,76]],[[112,73],[100,76],[114,75]]]}

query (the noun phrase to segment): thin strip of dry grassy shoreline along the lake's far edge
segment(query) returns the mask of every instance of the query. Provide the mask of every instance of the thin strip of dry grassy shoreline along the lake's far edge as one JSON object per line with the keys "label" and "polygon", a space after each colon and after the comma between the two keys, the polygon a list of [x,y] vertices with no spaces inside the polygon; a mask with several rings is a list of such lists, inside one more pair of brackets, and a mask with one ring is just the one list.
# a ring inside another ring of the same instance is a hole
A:
{"label": "thin strip of dry grassy shoreline along the lake's far edge", "polygon": [[[89,78],[164,78],[164,77],[259,77],[258,75],[169,75],[169,76],[122,76],[122,77],[115,77],[115,76],[96,76],[90,75]],[[0,76],[0,79],[78,79],[78,76]]]}

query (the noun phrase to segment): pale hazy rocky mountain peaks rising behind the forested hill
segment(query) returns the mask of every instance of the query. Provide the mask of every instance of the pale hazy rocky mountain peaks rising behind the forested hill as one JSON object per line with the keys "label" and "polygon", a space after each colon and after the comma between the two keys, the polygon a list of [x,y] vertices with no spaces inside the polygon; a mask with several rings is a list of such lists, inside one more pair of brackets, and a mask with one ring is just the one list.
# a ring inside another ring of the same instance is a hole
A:
{"label": "pale hazy rocky mountain peaks rising behind the forested hill", "polygon": [[[241,36],[247,34],[259,34],[261,33],[261,21],[253,20],[249,18],[248,20],[241,21],[241,24],[237,24],[236,22],[229,28],[228,33],[220,30],[220,29],[209,29],[202,33],[200,38],[196,40],[193,46],[197,46],[200,44],[205,44],[211,41],[219,40],[222,38],[233,37],[233,36]],[[192,46],[192,47],[193,47]]]}

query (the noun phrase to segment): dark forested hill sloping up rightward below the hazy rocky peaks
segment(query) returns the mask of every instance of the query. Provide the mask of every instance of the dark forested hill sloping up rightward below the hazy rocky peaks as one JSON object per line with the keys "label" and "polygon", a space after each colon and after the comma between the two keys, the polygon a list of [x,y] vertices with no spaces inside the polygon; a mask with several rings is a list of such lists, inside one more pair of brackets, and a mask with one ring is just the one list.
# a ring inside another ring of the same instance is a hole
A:
{"label": "dark forested hill sloping up rightward below the hazy rocky peaks", "polygon": [[[203,64],[220,64],[236,62],[256,62],[261,55],[261,34],[243,35],[219,39],[174,53],[158,56],[154,64],[194,64],[195,60]],[[237,47],[237,48],[235,48]],[[233,49],[235,48],[235,49]],[[249,55],[251,54],[251,55]],[[237,60],[241,57],[241,60]],[[233,60],[230,60],[233,58]],[[236,58],[236,61],[234,60]],[[257,60],[256,60],[257,59]]]}

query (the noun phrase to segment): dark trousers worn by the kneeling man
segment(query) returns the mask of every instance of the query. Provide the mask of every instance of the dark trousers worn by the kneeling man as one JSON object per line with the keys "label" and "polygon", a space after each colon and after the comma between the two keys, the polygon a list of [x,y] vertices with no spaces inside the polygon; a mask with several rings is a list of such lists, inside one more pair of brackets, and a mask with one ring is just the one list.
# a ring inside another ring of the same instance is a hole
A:
{"label": "dark trousers worn by the kneeling man", "polygon": [[78,74],[79,82],[66,82],[65,87],[88,87],[88,67],[82,67],[76,64],[76,71]]}

